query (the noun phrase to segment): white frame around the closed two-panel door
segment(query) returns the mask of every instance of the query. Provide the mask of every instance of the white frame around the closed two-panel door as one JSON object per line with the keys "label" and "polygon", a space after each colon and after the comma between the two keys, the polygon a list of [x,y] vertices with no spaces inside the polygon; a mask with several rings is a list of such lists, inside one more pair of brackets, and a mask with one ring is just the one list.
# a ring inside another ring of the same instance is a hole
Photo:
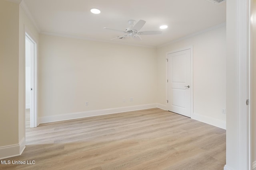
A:
{"label": "white frame around the closed two-panel door", "polygon": [[193,95],[193,89],[194,89],[194,86],[193,86],[193,45],[190,45],[190,46],[187,46],[187,47],[182,47],[180,49],[174,49],[174,50],[171,50],[171,51],[168,51],[166,53],[166,109],[168,108],[167,105],[168,105],[168,54],[171,54],[171,53],[176,53],[176,52],[180,52],[180,51],[184,51],[184,50],[188,50],[190,49],[190,80],[191,80],[191,85],[190,85],[190,117],[193,117],[193,114],[194,114],[194,95]]}

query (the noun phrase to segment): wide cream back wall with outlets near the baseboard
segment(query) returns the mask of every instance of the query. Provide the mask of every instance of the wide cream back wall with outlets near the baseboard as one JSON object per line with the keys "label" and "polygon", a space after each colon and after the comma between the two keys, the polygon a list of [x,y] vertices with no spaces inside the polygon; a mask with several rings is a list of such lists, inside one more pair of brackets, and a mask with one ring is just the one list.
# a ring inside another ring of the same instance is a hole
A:
{"label": "wide cream back wall with outlets near the baseboard", "polygon": [[154,48],[40,35],[39,50],[39,117],[156,103]]}

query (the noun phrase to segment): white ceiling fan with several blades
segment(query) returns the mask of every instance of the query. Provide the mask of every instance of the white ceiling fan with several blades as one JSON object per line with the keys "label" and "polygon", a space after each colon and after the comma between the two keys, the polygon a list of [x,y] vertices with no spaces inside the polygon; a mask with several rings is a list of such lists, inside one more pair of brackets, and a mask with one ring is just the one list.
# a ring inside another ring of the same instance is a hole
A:
{"label": "white ceiling fan with several blades", "polygon": [[[140,29],[146,23],[146,21],[144,21],[144,20],[138,21],[135,25],[134,25],[135,20],[129,20],[128,23],[131,26],[126,28],[125,31],[118,30],[118,29],[107,28],[107,27],[104,27],[104,29],[125,33],[125,35],[121,35],[121,36],[116,37],[116,38],[119,38],[119,39],[123,39],[123,38],[126,38],[126,37],[133,37],[134,39],[142,40],[140,35],[154,35],[154,34],[161,34],[162,33],[162,31],[140,31]],[[113,38],[113,39],[116,39],[116,38]],[[113,40],[113,39],[110,39],[110,40]]]}

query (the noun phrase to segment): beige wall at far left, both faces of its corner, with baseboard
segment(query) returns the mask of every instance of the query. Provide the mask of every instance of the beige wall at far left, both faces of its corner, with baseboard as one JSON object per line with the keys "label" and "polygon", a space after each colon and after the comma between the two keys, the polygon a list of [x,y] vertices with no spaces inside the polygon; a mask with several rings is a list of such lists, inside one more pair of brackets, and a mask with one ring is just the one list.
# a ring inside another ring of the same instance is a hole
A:
{"label": "beige wall at far left, both faces of its corner, with baseboard", "polygon": [[[25,147],[25,30],[38,39],[18,3],[0,1],[0,158]],[[12,145],[12,146],[10,146]]]}

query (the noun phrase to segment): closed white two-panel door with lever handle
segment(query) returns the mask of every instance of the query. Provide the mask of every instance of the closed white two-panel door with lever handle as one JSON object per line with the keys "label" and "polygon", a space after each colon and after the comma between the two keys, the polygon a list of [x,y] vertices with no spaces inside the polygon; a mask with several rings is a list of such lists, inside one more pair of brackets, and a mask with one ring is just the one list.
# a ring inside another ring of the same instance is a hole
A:
{"label": "closed white two-panel door with lever handle", "polygon": [[170,53],[168,57],[169,111],[191,117],[191,57],[190,49]]}

